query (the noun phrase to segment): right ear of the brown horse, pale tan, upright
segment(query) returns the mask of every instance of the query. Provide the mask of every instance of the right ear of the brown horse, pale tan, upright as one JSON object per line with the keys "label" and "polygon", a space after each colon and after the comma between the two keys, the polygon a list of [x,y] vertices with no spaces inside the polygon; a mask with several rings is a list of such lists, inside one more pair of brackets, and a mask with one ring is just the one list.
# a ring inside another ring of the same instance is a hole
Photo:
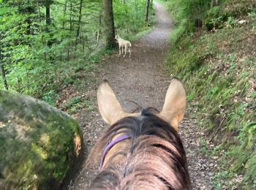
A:
{"label": "right ear of the brown horse, pale tan, upright", "polygon": [[178,78],[173,77],[165,96],[165,104],[158,114],[159,118],[167,121],[178,130],[178,123],[182,121],[186,109],[186,91]]}

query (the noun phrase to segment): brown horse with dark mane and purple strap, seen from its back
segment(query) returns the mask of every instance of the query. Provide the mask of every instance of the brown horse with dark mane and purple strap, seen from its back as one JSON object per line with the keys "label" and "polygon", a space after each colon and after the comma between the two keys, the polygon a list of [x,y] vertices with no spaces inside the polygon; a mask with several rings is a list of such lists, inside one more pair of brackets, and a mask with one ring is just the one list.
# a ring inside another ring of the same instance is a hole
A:
{"label": "brown horse with dark mane and purple strap, seen from its back", "polygon": [[87,159],[87,165],[99,164],[89,189],[191,189],[187,157],[177,133],[186,107],[180,80],[171,80],[160,113],[151,107],[125,113],[106,80],[97,98],[99,112],[110,127]]}

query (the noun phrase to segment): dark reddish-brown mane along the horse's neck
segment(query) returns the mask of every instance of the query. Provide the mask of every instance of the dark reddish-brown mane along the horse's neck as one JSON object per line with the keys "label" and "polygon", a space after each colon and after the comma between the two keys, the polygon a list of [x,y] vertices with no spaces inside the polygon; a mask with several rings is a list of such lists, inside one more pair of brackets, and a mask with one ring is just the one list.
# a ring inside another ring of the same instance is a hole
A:
{"label": "dark reddish-brown mane along the horse's neck", "polygon": [[140,117],[122,118],[110,126],[91,151],[87,165],[99,164],[105,145],[119,133],[131,137],[131,148],[123,153],[124,164],[101,170],[89,189],[191,189],[181,138],[151,107]]}

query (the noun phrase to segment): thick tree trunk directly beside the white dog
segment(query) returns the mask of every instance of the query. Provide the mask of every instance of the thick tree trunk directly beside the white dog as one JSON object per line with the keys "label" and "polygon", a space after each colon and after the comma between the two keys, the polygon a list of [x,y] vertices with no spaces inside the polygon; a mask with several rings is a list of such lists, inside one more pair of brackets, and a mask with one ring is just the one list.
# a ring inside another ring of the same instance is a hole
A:
{"label": "thick tree trunk directly beside the white dog", "polygon": [[103,9],[103,24],[104,34],[106,37],[106,47],[113,48],[116,46],[115,43],[115,27],[114,27],[114,16],[113,16],[113,1],[102,0]]}

